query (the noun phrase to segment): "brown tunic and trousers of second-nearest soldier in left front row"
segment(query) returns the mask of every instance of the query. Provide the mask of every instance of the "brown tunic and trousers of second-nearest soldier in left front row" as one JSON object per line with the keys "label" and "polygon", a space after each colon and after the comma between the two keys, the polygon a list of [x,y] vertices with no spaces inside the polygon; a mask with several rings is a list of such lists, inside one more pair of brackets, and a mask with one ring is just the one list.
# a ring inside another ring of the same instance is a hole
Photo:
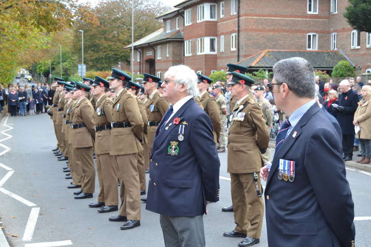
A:
{"label": "brown tunic and trousers of second-nearest soldier in left front row", "polygon": [[117,166],[109,155],[112,122],[112,101],[103,94],[96,100],[94,112],[96,170],[99,181],[98,202],[106,206],[119,205],[117,193]]}

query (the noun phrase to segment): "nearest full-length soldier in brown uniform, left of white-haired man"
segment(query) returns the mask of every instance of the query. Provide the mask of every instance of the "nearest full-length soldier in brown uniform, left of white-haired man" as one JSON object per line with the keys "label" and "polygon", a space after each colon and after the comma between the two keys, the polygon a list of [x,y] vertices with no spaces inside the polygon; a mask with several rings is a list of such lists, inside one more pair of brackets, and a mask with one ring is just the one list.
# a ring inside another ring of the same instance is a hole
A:
{"label": "nearest full-length soldier in brown uniform, left of white-haired man", "polygon": [[120,214],[110,217],[110,221],[126,221],[122,230],[140,226],[140,184],[138,173],[138,153],[143,150],[143,121],[137,100],[126,90],[131,77],[125,72],[112,69],[108,78],[110,89],[116,92],[113,101],[110,155],[114,156],[118,167],[118,177],[123,186],[124,199]]}

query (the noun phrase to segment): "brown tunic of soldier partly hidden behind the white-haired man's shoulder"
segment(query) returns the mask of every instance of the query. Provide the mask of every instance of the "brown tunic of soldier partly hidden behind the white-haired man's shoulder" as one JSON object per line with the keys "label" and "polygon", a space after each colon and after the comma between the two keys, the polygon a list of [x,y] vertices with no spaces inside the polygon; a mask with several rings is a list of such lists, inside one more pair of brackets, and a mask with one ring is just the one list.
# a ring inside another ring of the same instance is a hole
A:
{"label": "brown tunic of soldier partly hidden behind the white-haired man's shoulder", "polygon": [[218,143],[220,131],[222,130],[218,104],[215,101],[214,97],[211,96],[208,92],[202,94],[200,102],[206,114],[209,115],[211,123],[213,124],[214,142]]}

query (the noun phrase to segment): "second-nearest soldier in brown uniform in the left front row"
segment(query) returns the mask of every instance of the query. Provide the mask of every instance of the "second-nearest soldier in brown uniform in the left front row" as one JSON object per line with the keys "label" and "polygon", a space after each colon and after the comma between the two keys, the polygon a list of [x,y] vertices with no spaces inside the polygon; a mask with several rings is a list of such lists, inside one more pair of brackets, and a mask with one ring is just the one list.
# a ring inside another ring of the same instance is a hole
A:
{"label": "second-nearest soldier in brown uniform in the left front row", "polygon": [[103,207],[98,209],[99,213],[118,210],[118,188],[117,188],[117,166],[113,157],[109,155],[112,101],[106,95],[109,91],[109,82],[101,77],[95,76],[92,84],[93,96],[95,97],[95,155],[96,170],[99,181],[98,202],[89,204],[90,207]]}

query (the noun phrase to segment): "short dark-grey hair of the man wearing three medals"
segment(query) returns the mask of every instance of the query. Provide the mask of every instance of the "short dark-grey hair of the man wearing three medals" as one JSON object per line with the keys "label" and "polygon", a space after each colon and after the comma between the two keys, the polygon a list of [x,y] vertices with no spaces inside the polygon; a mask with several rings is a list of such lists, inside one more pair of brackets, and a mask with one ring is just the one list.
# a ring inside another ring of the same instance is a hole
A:
{"label": "short dark-grey hair of the man wearing three medals", "polygon": [[312,65],[301,57],[291,57],[278,61],[273,66],[277,83],[286,83],[288,88],[300,98],[314,99],[316,82]]}

